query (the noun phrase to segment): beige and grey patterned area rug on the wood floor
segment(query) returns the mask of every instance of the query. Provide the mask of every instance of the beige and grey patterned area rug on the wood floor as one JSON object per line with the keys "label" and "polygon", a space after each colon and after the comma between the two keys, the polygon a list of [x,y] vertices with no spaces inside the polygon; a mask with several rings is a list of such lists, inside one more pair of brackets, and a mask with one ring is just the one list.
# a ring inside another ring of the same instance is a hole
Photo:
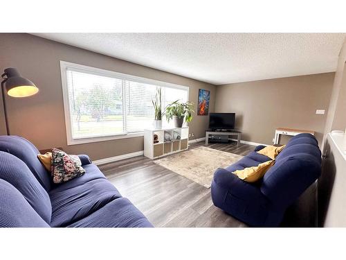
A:
{"label": "beige and grey patterned area rug on the wood floor", "polygon": [[200,146],[156,159],[154,162],[206,188],[210,188],[212,176],[217,168],[230,166],[242,157],[242,155]]}

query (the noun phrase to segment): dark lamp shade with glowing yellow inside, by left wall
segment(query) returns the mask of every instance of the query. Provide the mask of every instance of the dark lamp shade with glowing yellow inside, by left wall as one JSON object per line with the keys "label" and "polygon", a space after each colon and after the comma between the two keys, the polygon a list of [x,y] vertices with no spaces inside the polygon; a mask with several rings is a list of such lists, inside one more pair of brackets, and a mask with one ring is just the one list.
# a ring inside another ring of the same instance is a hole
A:
{"label": "dark lamp shade with glowing yellow inside, by left wall", "polygon": [[8,68],[4,70],[4,75],[7,76],[5,88],[8,96],[15,98],[24,98],[26,96],[33,96],[39,89],[27,78],[21,77],[17,69]]}

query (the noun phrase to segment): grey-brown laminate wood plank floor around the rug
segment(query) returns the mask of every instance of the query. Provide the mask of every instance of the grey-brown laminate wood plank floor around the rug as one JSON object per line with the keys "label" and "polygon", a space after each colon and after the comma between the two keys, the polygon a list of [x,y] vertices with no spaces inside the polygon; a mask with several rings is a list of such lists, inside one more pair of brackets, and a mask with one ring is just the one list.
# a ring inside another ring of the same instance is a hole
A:
{"label": "grey-brown laminate wood plank floor around the rug", "polygon": [[[205,144],[191,144],[190,149],[198,146]],[[246,155],[255,148],[237,146],[235,142],[208,147],[237,155]],[[210,189],[155,164],[152,159],[138,156],[99,168],[155,227],[246,227],[212,204]]]}

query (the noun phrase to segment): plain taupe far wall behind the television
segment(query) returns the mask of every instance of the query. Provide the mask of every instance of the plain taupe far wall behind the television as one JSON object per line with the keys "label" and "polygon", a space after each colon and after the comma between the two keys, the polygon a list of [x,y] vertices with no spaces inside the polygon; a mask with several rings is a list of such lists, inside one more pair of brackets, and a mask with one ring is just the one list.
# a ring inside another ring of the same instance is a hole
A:
{"label": "plain taupe far wall behind the television", "polygon": [[282,127],[316,131],[321,144],[327,114],[316,110],[327,113],[333,80],[334,73],[321,73],[217,86],[215,112],[235,112],[246,141],[273,144]]}

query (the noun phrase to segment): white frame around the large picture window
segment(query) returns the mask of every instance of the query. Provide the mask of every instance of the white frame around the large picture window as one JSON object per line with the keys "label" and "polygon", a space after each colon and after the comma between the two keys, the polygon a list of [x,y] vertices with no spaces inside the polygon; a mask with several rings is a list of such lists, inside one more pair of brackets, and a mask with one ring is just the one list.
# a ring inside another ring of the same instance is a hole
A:
{"label": "white frame around the large picture window", "polygon": [[[81,138],[75,138],[73,139],[72,134],[72,121],[71,121],[71,111],[70,111],[70,99],[69,99],[69,87],[67,82],[67,69],[72,69],[73,71],[78,71],[82,73],[91,73],[98,76],[107,76],[110,78],[117,78],[120,80],[131,80],[136,81],[138,83],[145,83],[150,85],[156,85],[158,87],[169,87],[174,89],[183,89],[187,91],[188,94],[188,101],[190,100],[190,87],[183,86],[183,85],[176,85],[172,83],[166,83],[159,80],[152,80],[149,78],[142,78],[138,76],[133,76],[125,73],[119,73],[115,71],[109,71],[106,69],[98,69],[95,67],[89,67],[82,64],[72,63],[72,62],[65,62],[63,60],[60,60],[60,73],[62,78],[62,98],[64,103],[64,117],[65,117],[65,128],[66,128],[66,138],[67,138],[67,145],[75,145],[75,144],[87,144],[87,143],[93,143],[98,141],[110,141],[110,140],[116,140],[116,139],[126,139],[126,138],[134,138],[134,137],[143,137],[144,131],[141,132],[131,132],[131,133],[121,133],[121,134],[114,134],[114,135],[100,135],[98,137],[81,137]],[[126,105],[126,96],[125,91],[122,92],[122,114],[124,116],[125,125],[127,120],[127,105]],[[154,116],[153,116],[154,121]],[[126,129],[125,129],[126,132]]]}

